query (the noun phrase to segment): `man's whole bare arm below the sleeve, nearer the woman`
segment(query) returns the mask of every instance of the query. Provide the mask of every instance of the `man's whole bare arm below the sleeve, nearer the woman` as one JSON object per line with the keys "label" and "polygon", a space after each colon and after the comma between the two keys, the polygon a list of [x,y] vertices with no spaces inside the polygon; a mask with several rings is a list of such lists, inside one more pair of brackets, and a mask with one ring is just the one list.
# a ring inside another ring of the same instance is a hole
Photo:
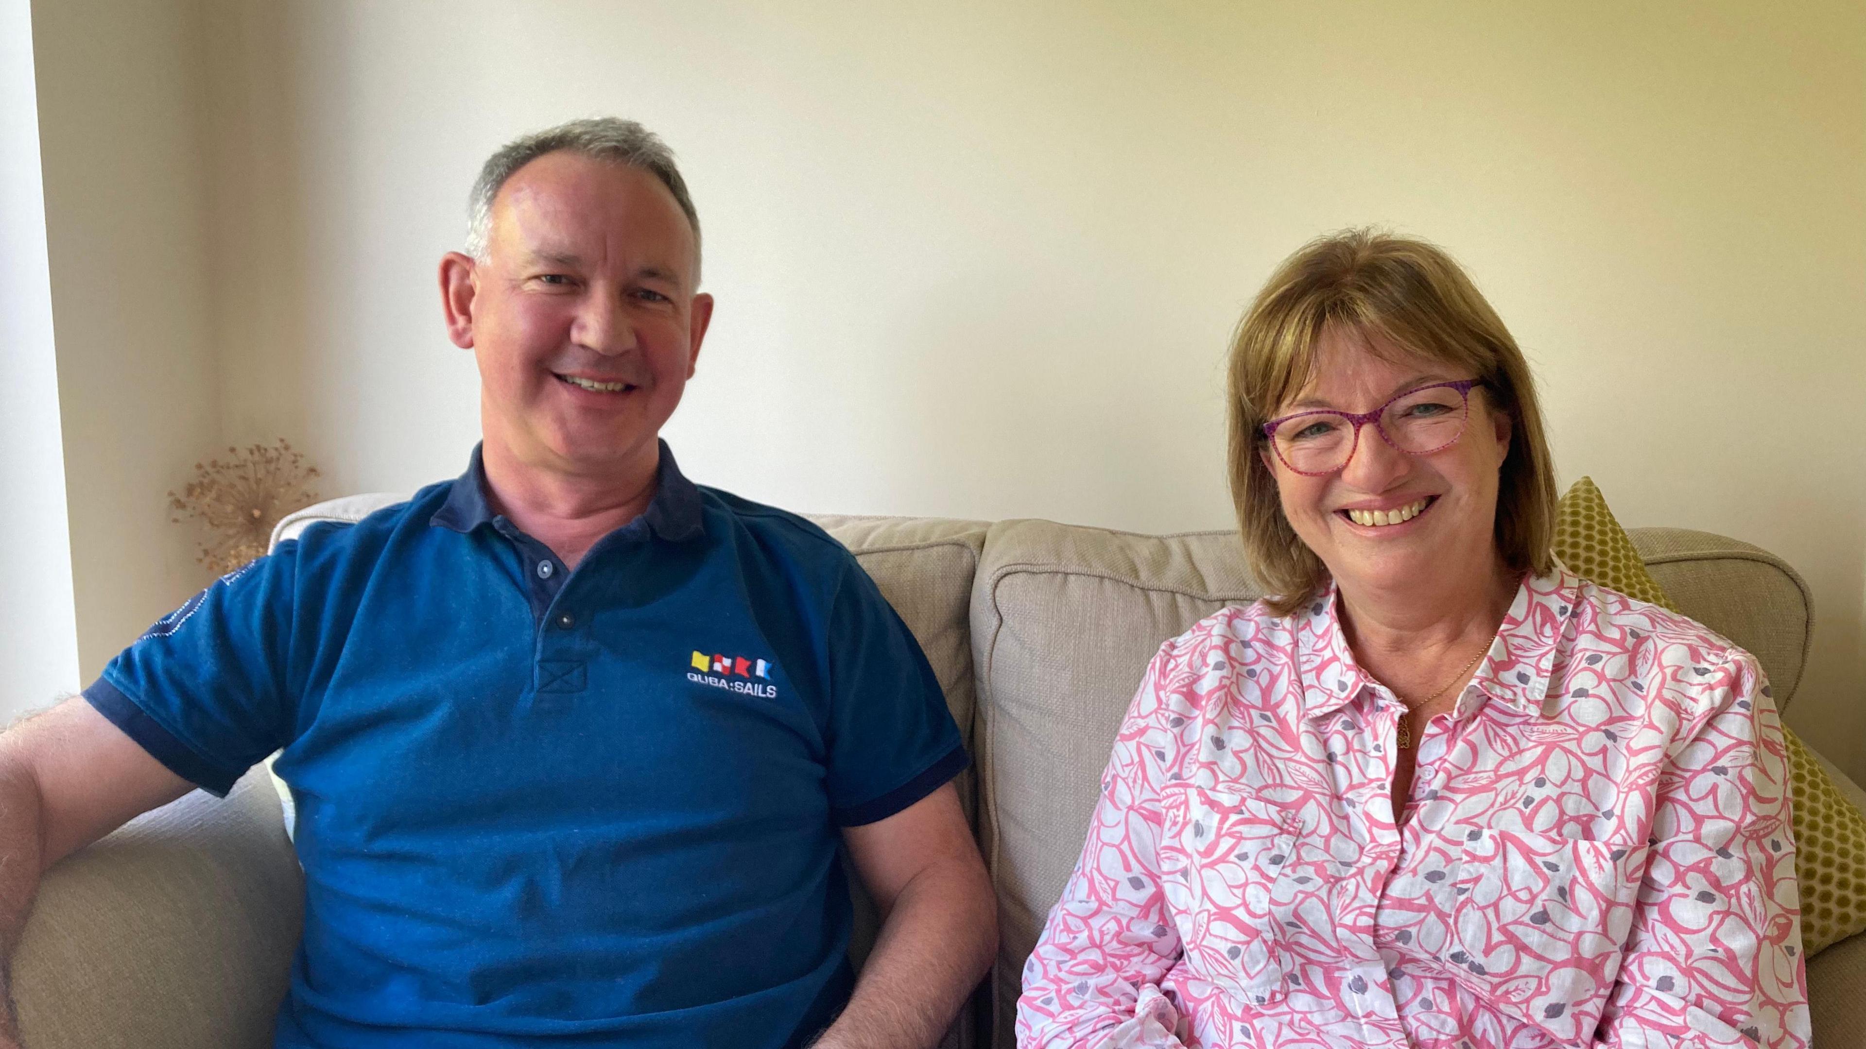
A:
{"label": "man's whole bare arm below the sleeve, nearer the woman", "polygon": [[939,1043],[998,950],[998,903],[946,784],[843,842],[881,909],[881,935],[842,1017],[815,1049]]}

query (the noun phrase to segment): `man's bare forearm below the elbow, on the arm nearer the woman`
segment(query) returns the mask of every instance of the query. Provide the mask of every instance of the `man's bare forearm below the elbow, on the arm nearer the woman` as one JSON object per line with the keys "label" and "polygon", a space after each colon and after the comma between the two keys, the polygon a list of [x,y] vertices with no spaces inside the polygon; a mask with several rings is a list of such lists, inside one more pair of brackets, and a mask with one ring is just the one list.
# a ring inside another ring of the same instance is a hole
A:
{"label": "man's bare forearm below the elbow, on the arm nearer the woman", "polygon": [[814,1049],[937,1045],[998,950],[998,909],[983,868],[929,870],[901,890],[849,1008]]}

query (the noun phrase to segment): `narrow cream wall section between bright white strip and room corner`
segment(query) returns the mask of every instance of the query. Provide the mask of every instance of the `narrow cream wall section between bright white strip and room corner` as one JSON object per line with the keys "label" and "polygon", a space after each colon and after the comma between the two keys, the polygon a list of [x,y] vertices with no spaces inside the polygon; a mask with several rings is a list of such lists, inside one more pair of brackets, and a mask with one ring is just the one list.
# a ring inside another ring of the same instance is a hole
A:
{"label": "narrow cream wall section between bright white strip and room corner", "polygon": [[32,19],[69,564],[90,683],[203,582],[166,500],[220,444],[202,21],[194,0],[41,0]]}

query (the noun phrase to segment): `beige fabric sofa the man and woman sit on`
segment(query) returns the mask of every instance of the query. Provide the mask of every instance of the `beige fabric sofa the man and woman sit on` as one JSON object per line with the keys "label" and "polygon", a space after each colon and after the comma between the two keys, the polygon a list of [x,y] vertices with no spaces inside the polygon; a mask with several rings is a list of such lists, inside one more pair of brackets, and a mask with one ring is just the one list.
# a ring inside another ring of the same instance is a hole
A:
{"label": "beige fabric sofa the man and woman sit on", "polygon": [[[394,502],[327,502],[280,524]],[[996,969],[948,1034],[1010,1047],[1017,978],[1075,864],[1116,726],[1155,648],[1256,597],[1224,532],[1136,536],[1049,521],[819,517],[918,635],[976,763],[961,778],[998,890]],[[1780,558],[1720,536],[1633,534],[1659,582],[1748,648],[1786,707],[1808,650],[1808,590]],[[1832,769],[1831,769],[1832,771]],[[1838,771],[1836,771],[1838,775]],[[1857,804],[1866,793],[1842,780]],[[15,971],[30,1049],[269,1045],[299,935],[300,881],[263,769],[200,791],[54,868]],[[864,937],[871,909],[856,902]],[[1866,935],[1808,963],[1821,1049],[1866,1047]]]}

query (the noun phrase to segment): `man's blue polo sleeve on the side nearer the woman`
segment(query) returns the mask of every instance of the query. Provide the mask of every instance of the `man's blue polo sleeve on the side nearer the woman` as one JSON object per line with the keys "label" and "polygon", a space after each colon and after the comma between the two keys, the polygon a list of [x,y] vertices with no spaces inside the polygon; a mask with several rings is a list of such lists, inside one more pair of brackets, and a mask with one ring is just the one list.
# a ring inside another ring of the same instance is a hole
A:
{"label": "man's blue polo sleeve on the side nearer the woman", "polygon": [[970,756],[920,642],[849,558],[830,610],[829,799],[836,823],[886,819]]}

